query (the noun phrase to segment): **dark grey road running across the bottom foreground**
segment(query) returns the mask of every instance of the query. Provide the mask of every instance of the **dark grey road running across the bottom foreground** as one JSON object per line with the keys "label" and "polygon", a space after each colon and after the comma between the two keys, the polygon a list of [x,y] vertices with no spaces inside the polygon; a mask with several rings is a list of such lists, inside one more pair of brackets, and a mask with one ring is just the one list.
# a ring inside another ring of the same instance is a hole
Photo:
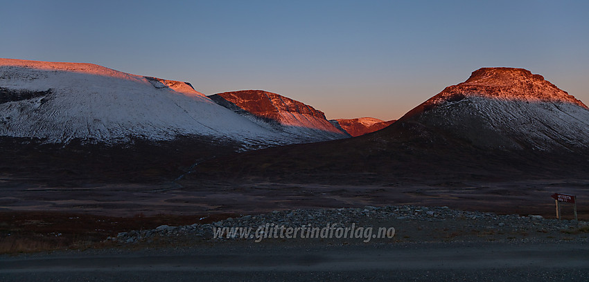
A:
{"label": "dark grey road running across the bottom foreground", "polygon": [[0,257],[0,281],[589,281],[589,245],[216,243]]}

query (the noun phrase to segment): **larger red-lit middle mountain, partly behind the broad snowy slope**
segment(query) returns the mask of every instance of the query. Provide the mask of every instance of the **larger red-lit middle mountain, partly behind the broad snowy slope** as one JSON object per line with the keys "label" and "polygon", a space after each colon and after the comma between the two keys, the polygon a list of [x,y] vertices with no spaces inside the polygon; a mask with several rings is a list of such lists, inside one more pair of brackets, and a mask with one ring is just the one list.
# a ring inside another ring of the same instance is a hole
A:
{"label": "larger red-lit middle mountain, partly behind the broad snowy slope", "polygon": [[275,131],[301,140],[316,142],[349,137],[307,104],[261,90],[218,93],[209,96],[221,106]]}

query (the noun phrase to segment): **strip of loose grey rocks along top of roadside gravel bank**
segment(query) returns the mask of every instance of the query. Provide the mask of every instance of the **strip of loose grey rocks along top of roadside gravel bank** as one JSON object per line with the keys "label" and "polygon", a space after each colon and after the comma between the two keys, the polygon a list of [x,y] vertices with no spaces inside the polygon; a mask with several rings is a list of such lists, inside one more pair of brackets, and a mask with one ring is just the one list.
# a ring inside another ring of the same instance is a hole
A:
{"label": "strip of loose grey rocks along top of roadside gravel bank", "polygon": [[[448,207],[415,207],[410,205],[383,207],[366,206],[360,209],[296,209],[289,211],[273,211],[269,214],[227,218],[226,220],[203,225],[197,223],[181,227],[160,225],[151,230],[121,232],[117,234],[116,238],[111,237],[107,240],[129,244],[139,243],[141,241],[151,241],[154,236],[164,236],[169,238],[176,238],[177,236],[195,236],[197,238],[209,240],[213,239],[215,236],[215,234],[213,234],[213,229],[218,232],[219,228],[223,227],[253,227],[256,229],[256,227],[265,225],[324,227],[327,224],[336,224],[337,226],[346,227],[351,223],[365,223],[367,222],[366,220],[369,220],[369,222],[375,222],[374,220],[376,220],[376,222],[401,220],[401,222],[407,223],[423,220],[424,223],[427,223],[428,227],[421,227],[419,230],[428,229],[432,226],[431,224],[435,222],[443,224],[443,227],[448,227],[448,224],[461,222],[465,223],[464,227],[468,231],[486,230],[486,232],[495,232],[495,230],[498,230],[499,232],[504,232],[504,234],[510,232],[510,234],[525,234],[531,230],[541,230],[538,232],[545,232],[546,230],[560,232],[563,229],[567,229],[569,226],[588,226],[588,223],[586,222],[577,223],[572,220],[556,220],[555,218],[545,219],[542,216],[535,215],[519,216],[516,214],[498,215],[484,212],[468,212],[449,209]],[[397,226],[395,227],[397,228]],[[261,230],[260,234],[265,234],[263,232],[264,231]],[[215,240],[227,240],[227,237],[215,238]]]}

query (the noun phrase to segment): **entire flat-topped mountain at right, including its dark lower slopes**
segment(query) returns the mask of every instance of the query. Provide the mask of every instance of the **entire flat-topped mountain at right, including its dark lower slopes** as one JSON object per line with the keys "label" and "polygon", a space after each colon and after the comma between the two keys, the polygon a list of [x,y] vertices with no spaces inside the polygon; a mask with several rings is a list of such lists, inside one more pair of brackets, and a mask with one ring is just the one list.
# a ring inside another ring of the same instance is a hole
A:
{"label": "entire flat-topped mountain at right, including its dark lower slopes", "polygon": [[345,184],[584,178],[588,147],[585,104],[524,69],[481,68],[380,131],[209,160],[193,177]]}

